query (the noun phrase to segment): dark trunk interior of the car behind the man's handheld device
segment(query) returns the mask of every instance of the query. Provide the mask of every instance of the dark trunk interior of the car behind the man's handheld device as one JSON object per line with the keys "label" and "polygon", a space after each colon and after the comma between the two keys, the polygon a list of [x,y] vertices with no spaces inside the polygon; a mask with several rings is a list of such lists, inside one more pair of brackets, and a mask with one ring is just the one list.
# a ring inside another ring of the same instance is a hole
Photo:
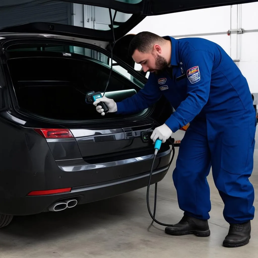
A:
{"label": "dark trunk interior of the car behind the man's handheld device", "polygon": [[[58,120],[107,118],[97,113],[93,104],[85,102],[87,92],[103,93],[106,88],[110,66],[104,62],[50,51],[14,51],[11,57],[7,67],[20,111]],[[139,90],[138,85],[113,70],[105,95],[121,101]],[[125,116],[108,115],[113,117]]]}

